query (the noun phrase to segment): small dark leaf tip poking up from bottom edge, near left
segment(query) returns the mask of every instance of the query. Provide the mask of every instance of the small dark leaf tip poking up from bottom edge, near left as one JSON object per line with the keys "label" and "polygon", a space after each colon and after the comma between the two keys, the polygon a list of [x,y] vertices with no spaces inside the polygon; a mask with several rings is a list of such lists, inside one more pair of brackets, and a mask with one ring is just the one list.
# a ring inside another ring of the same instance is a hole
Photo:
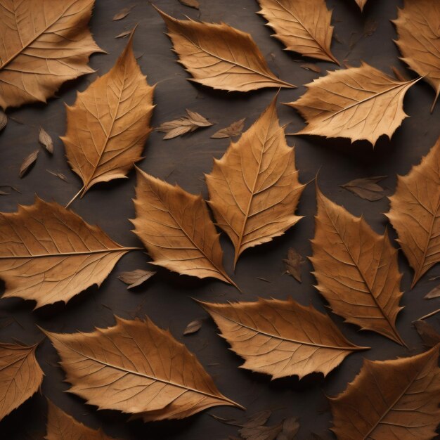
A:
{"label": "small dark leaf tip poking up from bottom edge, near left", "polygon": [[101,429],[91,429],[48,400],[46,440],[114,440]]}

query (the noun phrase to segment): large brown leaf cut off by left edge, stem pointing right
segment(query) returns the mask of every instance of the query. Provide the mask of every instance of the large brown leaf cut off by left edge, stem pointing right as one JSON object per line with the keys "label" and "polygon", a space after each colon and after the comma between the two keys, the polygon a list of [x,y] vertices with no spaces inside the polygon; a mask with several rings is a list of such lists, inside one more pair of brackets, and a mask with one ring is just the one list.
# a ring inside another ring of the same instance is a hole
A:
{"label": "large brown leaf cut off by left edge, stem pointing right", "polygon": [[3,297],[33,299],[36,308],[67,302],[101,285],[129,250],[97,226],[56,202],[36,198],[18,212],[0,212],[0,279]]}

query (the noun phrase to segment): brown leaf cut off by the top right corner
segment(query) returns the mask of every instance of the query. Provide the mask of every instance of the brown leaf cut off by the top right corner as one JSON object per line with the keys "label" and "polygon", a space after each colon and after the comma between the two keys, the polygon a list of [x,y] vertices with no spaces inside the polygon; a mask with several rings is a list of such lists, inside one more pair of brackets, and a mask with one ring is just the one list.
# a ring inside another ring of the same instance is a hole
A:
{"label": "brown leaf cut off by the top right corner", "polygon": [[431,111],[440,94],[440,3],[432,0],[405,0],[397,8],[397,46],[410,69],[423,76],[436,92]]}

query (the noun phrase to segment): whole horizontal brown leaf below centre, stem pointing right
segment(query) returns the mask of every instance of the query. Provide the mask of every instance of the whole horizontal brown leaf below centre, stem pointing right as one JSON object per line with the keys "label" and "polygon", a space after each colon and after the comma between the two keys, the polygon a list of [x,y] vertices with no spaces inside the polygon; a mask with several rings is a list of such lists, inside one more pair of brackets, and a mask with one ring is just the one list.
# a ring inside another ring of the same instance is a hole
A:
{"label": "whole horizontal brown leaf below centre, stem pointing right", "polygon": [[272,379],[313,372],[328,375],[357,347],[345,339],[331,319],[293,299],[212,304],[200,302],[235,353],[240,368]]}

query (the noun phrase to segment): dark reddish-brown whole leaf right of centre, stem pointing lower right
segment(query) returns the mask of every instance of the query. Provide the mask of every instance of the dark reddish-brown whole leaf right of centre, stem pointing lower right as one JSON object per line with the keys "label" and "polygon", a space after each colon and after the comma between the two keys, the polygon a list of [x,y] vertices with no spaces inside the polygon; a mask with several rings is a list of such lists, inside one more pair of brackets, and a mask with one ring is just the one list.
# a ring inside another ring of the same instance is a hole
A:
{"label": "dark reddish-brown whole leaf right of centre, stem pointing lower right", "polygon": [[375,233],[362,217],[328,200],[318,186],[316,198],[310,258],[316,288],[345,321],[405,345],[396,330],[396,316],[403,309],[402,274],[387,233]]}

